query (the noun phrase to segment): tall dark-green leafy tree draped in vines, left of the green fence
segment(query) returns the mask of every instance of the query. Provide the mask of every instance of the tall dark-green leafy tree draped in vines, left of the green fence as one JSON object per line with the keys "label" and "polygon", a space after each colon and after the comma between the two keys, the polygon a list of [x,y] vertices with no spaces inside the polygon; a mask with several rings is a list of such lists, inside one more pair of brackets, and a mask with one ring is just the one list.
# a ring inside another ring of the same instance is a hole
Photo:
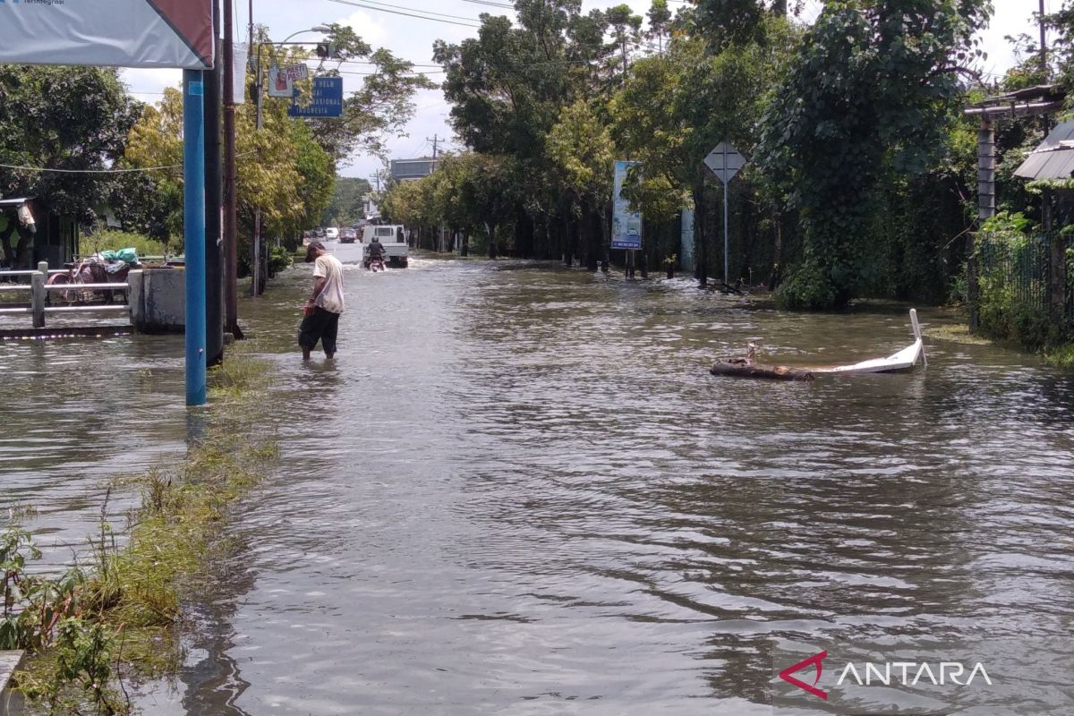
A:
{"label": "tall dark-green leafy tree draped in vines, left of the green fence", "polygon": [[885,163],[925,170],[959,98],[959,55],[975,52],[986,0],[828,2],[769,94],[758,160],[797,213],[802,261],[780,293],[789,307],[846,305]]}

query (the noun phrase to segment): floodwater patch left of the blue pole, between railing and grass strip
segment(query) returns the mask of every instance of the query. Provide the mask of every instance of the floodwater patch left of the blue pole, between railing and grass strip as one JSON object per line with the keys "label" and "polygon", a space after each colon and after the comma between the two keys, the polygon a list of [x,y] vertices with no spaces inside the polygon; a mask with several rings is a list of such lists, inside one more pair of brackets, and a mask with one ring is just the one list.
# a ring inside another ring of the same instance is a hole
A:
{"label": "floodwater patch left of the blue pole, between railing and grass strip", "polygon": [[[183,337],[0,341],[0,522],[13,509],[55,568],[98,530],[113,478],[182,455]],[[131,496],[111,493],[124,524]]]}

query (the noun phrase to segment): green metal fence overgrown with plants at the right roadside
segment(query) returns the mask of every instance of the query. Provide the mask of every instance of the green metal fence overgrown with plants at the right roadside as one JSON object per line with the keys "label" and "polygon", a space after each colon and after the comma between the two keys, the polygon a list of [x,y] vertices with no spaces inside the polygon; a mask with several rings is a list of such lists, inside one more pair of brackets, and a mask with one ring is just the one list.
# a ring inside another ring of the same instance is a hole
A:
{"label": "green metal fence overgrown with plants at the right roadside", "polygon": [[[1051,243],[1065,249],[1065,276],[1053,276]],[[978,234],[976,242],[979,304],[1008,307],[1012,312],[1054,316],[1050,309],[1055,281],[1065,282],[1065,331],[1074,331],[1074,235]],[[984,318],[984,317],[983,317]],[[985,326],[986,328],[989,326]]]}

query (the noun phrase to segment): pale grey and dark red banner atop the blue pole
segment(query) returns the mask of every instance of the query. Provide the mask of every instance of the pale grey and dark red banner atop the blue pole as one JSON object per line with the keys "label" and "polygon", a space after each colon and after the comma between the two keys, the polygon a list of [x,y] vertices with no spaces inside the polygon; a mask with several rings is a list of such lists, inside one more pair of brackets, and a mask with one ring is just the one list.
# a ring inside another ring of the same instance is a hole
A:
{"label": "pale grey and dark red banner atop the blue pole", "polygon": [[0,63],[213,67],[211,0],[0,0]]}

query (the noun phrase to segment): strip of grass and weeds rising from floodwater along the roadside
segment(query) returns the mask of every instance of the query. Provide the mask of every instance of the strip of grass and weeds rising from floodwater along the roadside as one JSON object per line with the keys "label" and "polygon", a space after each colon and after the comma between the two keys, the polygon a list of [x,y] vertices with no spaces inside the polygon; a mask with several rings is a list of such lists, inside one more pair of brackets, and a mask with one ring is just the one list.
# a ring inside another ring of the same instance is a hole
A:
{"label": "strip of grass and weeds rising from floodwater along the roadside", "polygon": [[88,566],[45,578],[26,569],[40,556],[27,532],[0,535],[0,648],[31,654],[15,678],[32,704],[50,714],[132,713],[126,684],[178,667],[184,603],[212,591],[213,566],[230,547],[230,508],[278,457],[258,424],[267,375],[265,362],[233,352],[211,378],[221,399],[186,458],[117,481],[140,495],[124,546],[102,509]]}

